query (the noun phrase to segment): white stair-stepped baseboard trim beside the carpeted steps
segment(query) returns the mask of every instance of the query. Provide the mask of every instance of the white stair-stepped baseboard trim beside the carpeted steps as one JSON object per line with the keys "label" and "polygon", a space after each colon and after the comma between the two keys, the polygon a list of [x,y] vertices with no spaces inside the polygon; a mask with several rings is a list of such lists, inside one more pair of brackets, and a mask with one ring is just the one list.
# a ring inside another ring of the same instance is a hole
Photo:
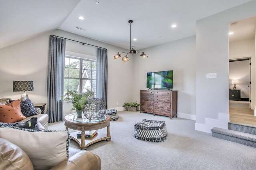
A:
{"label": "white stair-stepped baseboard trim beside the carpeted steps", "polygon": [[195,130],[206,133],[212,133],[213,127],[228,129],[229,114],[218,113],[218,119],[205,119],[205,124],[195,123]]}

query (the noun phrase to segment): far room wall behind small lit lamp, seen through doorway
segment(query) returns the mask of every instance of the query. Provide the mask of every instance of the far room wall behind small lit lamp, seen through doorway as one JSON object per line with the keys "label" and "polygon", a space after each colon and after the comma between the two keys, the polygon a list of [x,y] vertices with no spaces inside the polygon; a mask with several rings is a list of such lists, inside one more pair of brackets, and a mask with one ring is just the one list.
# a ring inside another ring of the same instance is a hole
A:
{"label": "far room wall behind small lit lamp, seen through doorway", "polygon": [[[241,90],[241,98],[248,98],[250,93],[250,64],[249,60],[229,62],[229,88],[233,89],[232,80],[238,80],[236,89]],[[255,90],[254,90],[255,91]]]}

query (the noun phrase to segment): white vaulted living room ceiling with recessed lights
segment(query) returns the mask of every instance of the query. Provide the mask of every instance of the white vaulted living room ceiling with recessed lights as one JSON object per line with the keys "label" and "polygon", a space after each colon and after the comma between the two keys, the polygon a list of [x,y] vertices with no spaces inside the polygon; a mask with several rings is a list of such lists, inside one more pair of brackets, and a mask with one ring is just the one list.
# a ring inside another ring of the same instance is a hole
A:
{"label": "white vaulted living room ceiling with recessed lights", "polygon": [[59,28],[130,49],[128,20],[134,20],[132,38],[138,40],[132,45],[138,50],[195,35],[196,20],[249,1],[0,0],[0,48]]}

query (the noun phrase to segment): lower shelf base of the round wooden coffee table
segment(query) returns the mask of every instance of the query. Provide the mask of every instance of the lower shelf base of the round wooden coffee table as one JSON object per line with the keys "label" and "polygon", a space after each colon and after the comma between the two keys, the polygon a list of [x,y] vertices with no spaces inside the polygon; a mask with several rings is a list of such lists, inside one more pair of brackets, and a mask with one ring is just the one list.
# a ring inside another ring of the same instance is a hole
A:
{"label": "lower shelf base of the round wooden coffee table", "polygon": [[87,147],[96,143],[96,142],[99,142],[99,141],[103,141],[106,139],[106,141],[109,141],[111,140],[111,136],[108,137],[106,136],[106,134],[103,134],[103,133],[100,133],[100,132],[97,132],[96,135],[94,135],[94,137],[92,138],[85,138],[84,139],[84,146],[81,145],[81,138],[77,138],[76,137],[76,134],[78,133],[79,131],[76,131],[76,132],[72,132],[70,133],[70,138],[73,139],[74,141],[76,141],[76,143],[78,143],[80,149],[82,150],[87,150]]}

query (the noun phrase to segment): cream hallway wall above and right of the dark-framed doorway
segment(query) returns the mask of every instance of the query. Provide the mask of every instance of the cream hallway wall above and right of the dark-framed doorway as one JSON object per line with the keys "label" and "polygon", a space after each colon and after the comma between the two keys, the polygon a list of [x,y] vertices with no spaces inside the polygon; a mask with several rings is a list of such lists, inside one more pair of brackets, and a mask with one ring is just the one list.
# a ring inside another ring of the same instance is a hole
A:
{"label": "cream hallway wall above and right of the dark-framed doorway", "polygon": [[[248,39],[244,41],[238,41],[234,43],[229,43],[229,59],[240,59],[240,58],[246,58],[246,57],[251,57],[251,86],[252,86],[252,109],[254,109],[254,104],[256,102],[255,100],[255,38],[253,39]],[[232,75],[233,76],[233,75]],[[235,76],[235,75],[234,75]],[[231,77],[230,77],[231,78]],[[231,83],[231,81],[230,81]],[[231,85],[230,85],[231,86]],[[246,85],[240,86],[240,83],[236,86],[237,88],[243,88],[246,90]],[[248,87],[247,87],[248,88]],[[244,95],[241,93],[241,97]],[[248,96],[246,94],[246,96]],[[248,97],[249,98],[249,97]]]}

